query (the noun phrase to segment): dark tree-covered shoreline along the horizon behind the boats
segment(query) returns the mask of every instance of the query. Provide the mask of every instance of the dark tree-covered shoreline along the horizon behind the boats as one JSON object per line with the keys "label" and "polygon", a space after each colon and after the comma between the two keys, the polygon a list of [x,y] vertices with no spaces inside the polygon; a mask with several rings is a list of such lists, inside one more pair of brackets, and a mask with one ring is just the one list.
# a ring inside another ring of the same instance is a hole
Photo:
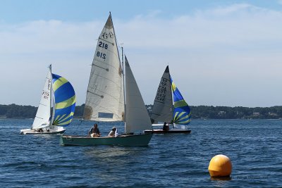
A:
{"label": "dark tree-covered shoreline along the horizon behind the boats", "polygon": [[[74,118],[82,118],[84,104],[75,107]],[[148,113],[152,105],[146,105]],[[190,106],[193,119],[279,119],[282,106],[248,108],[242,106]],[[35,118],[37,107],[16,104],[0,105],[0,118]]]}

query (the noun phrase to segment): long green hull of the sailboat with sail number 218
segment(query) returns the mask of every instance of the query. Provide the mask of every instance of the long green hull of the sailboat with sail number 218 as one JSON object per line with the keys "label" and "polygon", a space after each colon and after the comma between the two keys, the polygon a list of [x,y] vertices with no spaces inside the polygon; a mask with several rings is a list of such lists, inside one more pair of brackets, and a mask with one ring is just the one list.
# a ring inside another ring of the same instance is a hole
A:
{"label": "long green hull of the sailboat with sail number 218", "polygon": [[118,137],[80,137],[62,135],[61,146],[147,146],[153,134],[125,134]]}

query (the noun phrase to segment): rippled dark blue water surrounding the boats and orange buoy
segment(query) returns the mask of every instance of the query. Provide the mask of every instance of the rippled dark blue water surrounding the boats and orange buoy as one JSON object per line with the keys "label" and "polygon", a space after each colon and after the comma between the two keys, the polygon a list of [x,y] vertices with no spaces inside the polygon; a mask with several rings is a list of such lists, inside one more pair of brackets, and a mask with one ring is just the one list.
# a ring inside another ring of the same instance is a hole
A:
{"label": "rippled dark blue water surrounding the boats and orange buoy", "polygon": [[[156,134],[147,147],[59,146],[56,135],[18,134],[32,121],[0,120],[0,187],[282,187],[282,120],[193,120],[191,134]],[[74,120],[66,134],[91,126]],[[99,124],[104,134],[111,127]],[[231,180],[209,177],[217,154],[231,158]]]}

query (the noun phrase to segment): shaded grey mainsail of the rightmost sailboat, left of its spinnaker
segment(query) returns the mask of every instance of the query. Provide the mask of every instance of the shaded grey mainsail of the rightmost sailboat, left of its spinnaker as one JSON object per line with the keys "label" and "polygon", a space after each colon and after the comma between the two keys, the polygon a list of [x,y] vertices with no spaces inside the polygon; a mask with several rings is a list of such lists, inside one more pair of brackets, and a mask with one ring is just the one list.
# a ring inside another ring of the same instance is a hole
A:
{"label": "shaded grey mainsail of the rightmost sailboat, left of its spinnaker", "polygon": [[161,82],[159,82],[157,94],[154,99],[151,120],[152,123],[170,123],[171,120],[173,120],[173,100],[168,66],[161,77]]}

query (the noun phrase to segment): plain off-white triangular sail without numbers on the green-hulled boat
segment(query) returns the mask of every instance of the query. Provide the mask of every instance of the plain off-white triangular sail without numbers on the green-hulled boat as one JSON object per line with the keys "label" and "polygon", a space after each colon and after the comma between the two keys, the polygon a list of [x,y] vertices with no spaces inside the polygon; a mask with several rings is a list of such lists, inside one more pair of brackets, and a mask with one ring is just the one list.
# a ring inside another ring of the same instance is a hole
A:
{"label": "plain off-white triangular sail without numbers on the green-hulled boat", "polygon": [[152,129],[147,108],[145,107],[135,77],[125,56],[125,133]]}

